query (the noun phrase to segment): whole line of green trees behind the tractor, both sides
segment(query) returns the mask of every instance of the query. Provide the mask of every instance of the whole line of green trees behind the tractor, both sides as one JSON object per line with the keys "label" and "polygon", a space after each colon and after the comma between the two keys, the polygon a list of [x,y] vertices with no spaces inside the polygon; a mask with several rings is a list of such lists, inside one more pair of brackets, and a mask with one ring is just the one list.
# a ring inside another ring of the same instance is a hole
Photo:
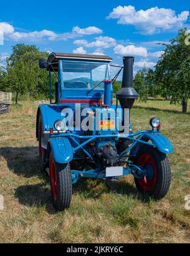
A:
{"label": "whole line of green trees behind the tractor, both sides", "polygon": [[[190,34],[187,29],[179,30],[177,37],[168,44],[162,44],[163,54],[155,69],[143,68],[134,77],[134,87],[141,101],[149,97],[162,96],[171,103],[182,103],[182,112],[187,112],[190,98]],[[39,68],[39,59],[47,58],[48,53],[39,51],[36,46],[16,44],[3,67],[0,63],[0,91],[11,91],[18,96],[32,98],[49,97],[49,75]],[[53,85],[56,77],[53,76]],[[121,83],[115,82],[114,94]]]}

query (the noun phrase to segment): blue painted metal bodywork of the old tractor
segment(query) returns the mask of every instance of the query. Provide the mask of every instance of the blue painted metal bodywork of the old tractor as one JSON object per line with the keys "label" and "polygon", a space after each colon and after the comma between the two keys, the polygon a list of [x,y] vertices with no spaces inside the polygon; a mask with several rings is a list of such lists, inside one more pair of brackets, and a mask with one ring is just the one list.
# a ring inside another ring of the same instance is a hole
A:
{"label": "blue painted metal bodywork of the old tractor", "polygon": [[[83,61],[83,63],[89,63],[89,61]],[[128,168],[124,168],[124,176],[132,174],[137,178],[142,178],[143,176],[146,176],[144,170],[141,167],[132,165],[129,161],[123,161],[124,158],[135,157],[137,151],[139,151],[139,149],[143,145],[151,146],[153,148],[156,148],[158,151],[166,154],[173,152],[172,144],[170,143],[170,141],[168,141],[167,138],[160,134],[160,130],[145,130],[136,133],[123,134],[119,133],[117,129],[115,129],[114,131],[97,131],[95,129],[91,135],[87,135],[85,132],[82,131],[76,131],[75,129],[73,129],[73,131],[65,133],[56,132],[56,129],[54,128],[54,122],[63,119],[62,111],[65,108],[70,108],[73,110],[73,112],[75,112],[75,107],[77,103],[80,103],[81,108],[85,109],[91,108],[92,110],[94,110],[95,108],[101,108],[103,111],[107,111],[108,108],[111,107],[112,109],[114,109],[114,112],[117,112],[117,106],[113,105],[112,101],[113,86],[108,80],[107,82],[105,82],[104,89],[96,89],[96,91],[91,91],[90,93],[88,93],[88,89],[65,89],[61,60],[59,61],[58,67],[59,81],[58,88],[56,91],[57,102],[56,104],[52,104],[51,72],[49,72],[49,91],[51,104],[39,106],[37,114],[37,117],[39,117],[39,115],[41,115],[42,117],[42,148],[46,150],[47,162],[49,160],[49,150],[47,150],[48,146],[51,147],[51,150],[53,151],[54,160],[58,163],[65,164],[70,163],[73,160],[84,160],[84,162],[94,162],[94,151],[91,147],[87,146],[89,143],[95,143],[96,151],[98,151],[98,149],[101,148],[103,144],[111,143],[113,146],[115,146],[116,143],[118,143],[119,139],[129,139],[130,141],[132,141],[132,143],[124,152],[118,155],[118,159],[120,160],[120,163],[123,162],[127,163],[128,165]],[[102,106],[100,104],[102,103],[104,93],[105,106]],[[118,108],[120,108],[120,106],[118,106]],[[110,118],[113,118],[113,120],[117,121],[117,118],[120,118],[112,114],[113,113],[110,113]],[[53,133],[52,131],[50,132],[50,130],[53,130]],[[38,131],[37,134],[39,134]],[[136,171],[141,172],[142,176],[137,176]],[[91,170],[85,170],[85,167],[84,170],[72,170],[73,184],[78,182],[81,177],[105,179],[106,174],[104,173],[104,170],[101,169],[101,167],[97,167],[97,169]],[[117,177],[113,177],[113,179],[115,178]]]}

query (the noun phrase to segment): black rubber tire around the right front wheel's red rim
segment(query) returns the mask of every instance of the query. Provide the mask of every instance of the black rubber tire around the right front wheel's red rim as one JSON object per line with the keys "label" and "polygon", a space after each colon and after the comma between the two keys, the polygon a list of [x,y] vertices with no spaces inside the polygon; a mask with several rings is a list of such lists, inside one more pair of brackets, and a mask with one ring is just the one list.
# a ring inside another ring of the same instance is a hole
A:
{"label": "black rubber tire around the right front wheel's red rim", "polygon": [[156,165],[156,183],[153,189],[150,191],[144,191],[141,185],[139,184],[139,179],[135,178],[135,183],[138,191],[142,194],[146,194],[155,198],[156,200],[161,200],[164,198],[168,190],[170,189],[171,184],[171,169],[170,163],[168,161],[167,155],[152,148],[150,146],[142,146],[137,152],[136,158],[134,158],[134,164],[137,165],[139,159],[142,155],[148,153],[155,161]]}

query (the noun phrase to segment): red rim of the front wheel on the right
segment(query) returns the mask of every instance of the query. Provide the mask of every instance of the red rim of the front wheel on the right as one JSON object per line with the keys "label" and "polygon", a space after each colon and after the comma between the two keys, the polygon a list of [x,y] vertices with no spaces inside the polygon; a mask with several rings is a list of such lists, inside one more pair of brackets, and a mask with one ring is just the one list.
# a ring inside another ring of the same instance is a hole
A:
{"label": "red rim of the front wheel on the right", "polygon": [[143,165],[143,168],[146,169],[146,166],[151,165],[153,170],[153,175],[151,179],[148,179],[147,177],[144,177],[143,179],[139,179],[139,185],[144,191],[150,191],[155,187],[156,184],[156,163],[153,157],[149,154],[144,154],[140,157],[138,165]]}

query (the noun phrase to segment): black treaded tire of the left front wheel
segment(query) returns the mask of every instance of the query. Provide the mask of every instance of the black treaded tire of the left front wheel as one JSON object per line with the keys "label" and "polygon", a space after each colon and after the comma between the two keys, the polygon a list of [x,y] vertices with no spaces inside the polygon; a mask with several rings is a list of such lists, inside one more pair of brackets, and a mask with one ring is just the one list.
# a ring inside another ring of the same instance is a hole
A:
{"label": "black treaded tire of the left front wheel", "polygon": [[[53,195],[53,182],[51,179],[51,162],[54,162],[56,171],[56,199]],[[70,164],[65,165],[56,163],[51,152],[49,158],[49,172],[50,172],[50,183],[51,183],[51,196],[53,200],[53,206],[58,211],[63,211],[70,207],[72,202],[72,176]]]}

